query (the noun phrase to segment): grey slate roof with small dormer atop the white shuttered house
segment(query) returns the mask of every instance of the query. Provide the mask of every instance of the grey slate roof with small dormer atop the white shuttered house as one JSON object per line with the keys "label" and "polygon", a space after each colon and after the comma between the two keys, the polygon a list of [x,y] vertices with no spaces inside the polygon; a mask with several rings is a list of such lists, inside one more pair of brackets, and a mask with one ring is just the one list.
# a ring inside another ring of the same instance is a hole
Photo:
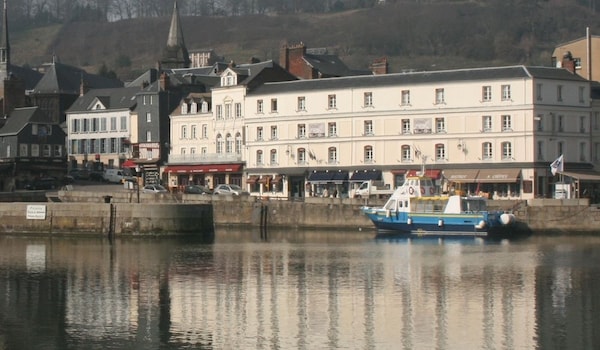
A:
{"label": "grey slate roof with small dormer atop the white shuttered house", "polygon": [[136,95],[140,92],[139,87],[93,89],[79,98],[71,105],[66,113],[86,112],[92,107],[92,103],[98,99],[106,109],[129,109],[134,110],[137,106]]}

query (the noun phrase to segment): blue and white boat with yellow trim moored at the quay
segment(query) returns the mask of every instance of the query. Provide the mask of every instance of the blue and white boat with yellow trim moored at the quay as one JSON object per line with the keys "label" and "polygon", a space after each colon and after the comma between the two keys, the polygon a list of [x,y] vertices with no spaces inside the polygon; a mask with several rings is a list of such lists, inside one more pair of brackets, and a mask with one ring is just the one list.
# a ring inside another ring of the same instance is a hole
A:
{"label": "blue and white boat with yellow trim moored at the quay", "polygon": [[488,211],[481,196],[440,195],[431,178],[407,177],[383,207],[362,212],[380,231],[415,236],[511,237],[528,232],[514,214]]}

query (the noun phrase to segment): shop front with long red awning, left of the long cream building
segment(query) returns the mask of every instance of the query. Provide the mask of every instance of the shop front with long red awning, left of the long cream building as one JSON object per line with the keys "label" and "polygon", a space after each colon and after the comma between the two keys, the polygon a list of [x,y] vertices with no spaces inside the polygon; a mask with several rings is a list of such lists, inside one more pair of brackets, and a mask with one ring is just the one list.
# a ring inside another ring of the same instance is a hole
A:
{"label": "shop front with long red awning, left of the long cream building", "polygon": [[187,185],[213,189],[221,183],[242,185],[241,164],[168,165],[163,169],[169,190],[182,191]]}

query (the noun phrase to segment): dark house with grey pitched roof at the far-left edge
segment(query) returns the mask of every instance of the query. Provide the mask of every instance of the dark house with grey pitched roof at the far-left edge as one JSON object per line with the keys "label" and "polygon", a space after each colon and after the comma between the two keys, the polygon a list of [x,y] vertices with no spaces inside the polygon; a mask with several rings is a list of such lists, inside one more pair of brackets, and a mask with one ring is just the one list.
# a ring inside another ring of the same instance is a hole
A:
{"label": "dark house with grey pitched roof at the far-left edge", "polygon": [[66,174],[65,133],[41,108],[16,108],[0,128],[0,190]]}

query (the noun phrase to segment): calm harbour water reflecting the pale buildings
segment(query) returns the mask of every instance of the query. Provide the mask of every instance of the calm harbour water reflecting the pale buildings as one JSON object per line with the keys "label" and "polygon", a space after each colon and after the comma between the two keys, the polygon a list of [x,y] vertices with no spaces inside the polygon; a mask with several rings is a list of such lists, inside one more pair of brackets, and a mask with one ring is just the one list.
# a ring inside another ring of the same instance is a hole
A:
{"label": "calm harbour water reflecting the pale buildings", "polygon": [[599,277],[596,237],[0,237],[0,350],[597,349]]}

